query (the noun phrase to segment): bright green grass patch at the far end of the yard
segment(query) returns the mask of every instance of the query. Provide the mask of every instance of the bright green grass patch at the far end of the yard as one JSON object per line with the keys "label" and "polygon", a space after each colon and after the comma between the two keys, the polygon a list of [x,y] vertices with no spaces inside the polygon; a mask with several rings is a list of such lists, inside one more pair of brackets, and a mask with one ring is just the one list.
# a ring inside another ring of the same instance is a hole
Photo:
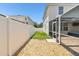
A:
{"label": "bright green grass patch at the far end of the yard", "polygon": [[50,36],[48,36],[45,32],[36,32],[32,39],[50,39]]}

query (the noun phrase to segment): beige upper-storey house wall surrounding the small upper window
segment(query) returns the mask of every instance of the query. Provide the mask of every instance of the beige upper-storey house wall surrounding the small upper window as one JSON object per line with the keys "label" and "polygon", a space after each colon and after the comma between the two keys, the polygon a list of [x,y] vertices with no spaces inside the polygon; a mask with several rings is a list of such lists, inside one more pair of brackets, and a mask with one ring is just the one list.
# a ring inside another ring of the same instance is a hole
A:
{"label": "beige upper-storey house wall surrounding the small upper window", "polygon": [[77,4],[48,4],[48,12],[49,12],[49,17],[50,20],[55,19],[57,16],[59,16],[58,14],[58,9],[60,6],[63,6],[63,13],[66,13],[67,11],[71,10],[72,8],[74,8]]}

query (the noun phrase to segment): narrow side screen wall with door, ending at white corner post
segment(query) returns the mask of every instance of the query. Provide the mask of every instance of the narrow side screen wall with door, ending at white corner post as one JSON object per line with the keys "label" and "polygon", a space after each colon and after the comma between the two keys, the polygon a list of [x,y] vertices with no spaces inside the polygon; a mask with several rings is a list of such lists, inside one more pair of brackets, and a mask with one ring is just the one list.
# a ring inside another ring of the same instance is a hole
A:
{"label": "narrow side screen wall with door, ending at white corner post", "polygon": [[56,39],[56,42],[58,44],[61,44],[61,17],[57,17],[56,19],[53,20],[52,22],[52,36],[54,39]]}

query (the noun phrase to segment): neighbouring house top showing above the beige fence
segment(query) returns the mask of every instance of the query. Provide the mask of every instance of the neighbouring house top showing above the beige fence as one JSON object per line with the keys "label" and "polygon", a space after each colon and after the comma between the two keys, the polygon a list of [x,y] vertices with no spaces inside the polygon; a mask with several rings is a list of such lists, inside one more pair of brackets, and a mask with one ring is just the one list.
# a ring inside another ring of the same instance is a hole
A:
{"label": "neighbouring house top showing above the beige fence", "polygon": [[29,16],[23,16],[23,15],[6,16],[6,15],[3,15],[3,14],[0,14],[0,16],[6,17],[6,18],[10,17],[12,20],[22,22],[22,23],[26,23],[26,24],[29,24],[29,25],[34,25],[34,22],[32,21],[32,19]]}

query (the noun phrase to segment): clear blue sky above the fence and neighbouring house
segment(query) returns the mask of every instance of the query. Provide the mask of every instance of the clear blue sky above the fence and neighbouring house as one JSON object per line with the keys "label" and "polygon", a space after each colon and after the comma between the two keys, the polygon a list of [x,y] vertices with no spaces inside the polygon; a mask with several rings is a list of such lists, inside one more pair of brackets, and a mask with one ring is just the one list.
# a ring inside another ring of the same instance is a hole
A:
{"label": "clear blue sky above the fence and neighbouring house", "polygon": [[43,22],[45,3],[0,3],[0,14],[29,16],[34,22]]}

